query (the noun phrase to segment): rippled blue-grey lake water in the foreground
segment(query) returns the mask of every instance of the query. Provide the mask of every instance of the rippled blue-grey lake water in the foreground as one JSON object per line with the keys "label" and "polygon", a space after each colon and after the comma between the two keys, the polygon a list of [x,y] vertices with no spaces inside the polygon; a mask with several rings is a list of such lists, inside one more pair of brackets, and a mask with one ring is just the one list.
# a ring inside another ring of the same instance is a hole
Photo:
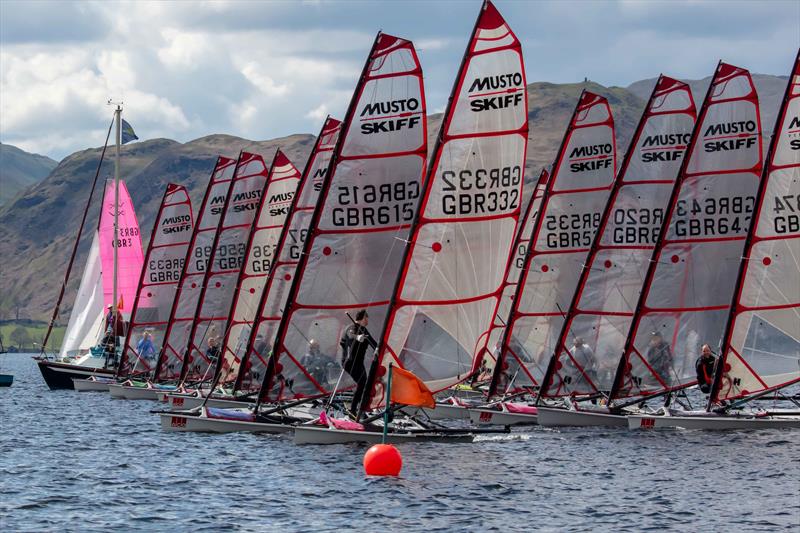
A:
{"label": "rippled blue-grey lake water in the foreground", "polygon": [[166,433],[151,402],[50,391],[0,356],[2,531],[798,531],[800,431],[515,430],[399,446]]}

